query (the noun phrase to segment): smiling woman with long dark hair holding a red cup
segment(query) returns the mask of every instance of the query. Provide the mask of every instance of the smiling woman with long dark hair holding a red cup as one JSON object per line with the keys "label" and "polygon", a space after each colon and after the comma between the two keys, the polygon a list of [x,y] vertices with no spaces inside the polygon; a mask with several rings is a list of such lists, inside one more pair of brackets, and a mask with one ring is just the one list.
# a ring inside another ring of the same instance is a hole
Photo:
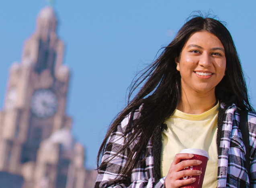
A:
{"label": "smiling woman with long dark hair holding a red cup", "polygon": [[[250,105],[232,37],[213,18],[186,22],[161,55],[131,87],[143,86],[122,110],[100,147],[95,188],[178,188],[195,181],[201,161],[185,148],[209,154],[203,187],[256,187],[256,115]],[[250,110],[251,176],[238,129],[241,110]]]}

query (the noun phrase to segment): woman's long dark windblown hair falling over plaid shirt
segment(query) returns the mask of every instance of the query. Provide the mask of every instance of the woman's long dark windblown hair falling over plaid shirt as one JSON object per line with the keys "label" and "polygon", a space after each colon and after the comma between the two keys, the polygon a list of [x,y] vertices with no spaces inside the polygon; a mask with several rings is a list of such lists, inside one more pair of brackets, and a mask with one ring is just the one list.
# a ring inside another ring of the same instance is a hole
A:
{"label": "woman's long dark windblown hair falling over plaid shirt", "polygon": [[[229,31],[222,22],[214,18],[193,17],[182,26],[176,37],[163,49],[156,61],[144,69],[139,78],[131,84],[128,105],[113,121],[100,146],[97,158],[98,170],[104,168],[108,161],[108,159],[101,161],[99,165],[100,158],[106,149],[106,142],[111,133],[116,131],[117,126],[125,116],[130,112],[134,112],[135,109],[138,109],[143,104],[143,108],[140,111],[141,118],[133,122],[132,127],[127,128],[126,133],[131,133],[131,129],[134,131],[129,136],[129,141],[119,151],[119,153],[124,152],[136,140],[137,144],[127,153],[127,161],[120,170],[117,180],[122,177],[130,177],[132,169],[137,165],[142,152],[145,150],[149,139],[152,138],[158,125],[164,123],[178,106],[181,92],[181,77],[180,72],[176,69],[175,58],[179,57],[188,38],[198,31],[207,31],[216,35],[225,49],[226,73],[215,88],[216,98],[220,102],[225,102],[226,104],[235,103],[241,109],[254,111],[249,102],[240,59]],[[139,92],[137,92],[132,100],[129,100],[139,86],[141,86]],[[138,137],[138,135],[143,136]]]}

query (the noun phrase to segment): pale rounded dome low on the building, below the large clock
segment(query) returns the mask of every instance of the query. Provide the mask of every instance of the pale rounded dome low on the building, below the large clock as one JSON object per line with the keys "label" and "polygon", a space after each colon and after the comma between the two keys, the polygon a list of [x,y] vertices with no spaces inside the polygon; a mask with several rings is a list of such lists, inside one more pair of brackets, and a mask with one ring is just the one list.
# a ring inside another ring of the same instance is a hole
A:
{"label": "pale rounded dome low on the building, below the large clock", "polygon": [[63,149],[72,150],[74,149],[75,140],[70,132],[70,129],[63,128],[52,133],[48,139],[48,143],[50,145],[58,143],[62,145]]}

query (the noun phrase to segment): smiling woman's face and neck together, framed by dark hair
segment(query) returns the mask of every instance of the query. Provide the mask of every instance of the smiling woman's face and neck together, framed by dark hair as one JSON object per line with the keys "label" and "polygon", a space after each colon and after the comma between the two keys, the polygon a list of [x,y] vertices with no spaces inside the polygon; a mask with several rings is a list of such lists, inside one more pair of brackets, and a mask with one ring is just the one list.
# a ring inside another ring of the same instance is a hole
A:
{"label": "smiling woman's face and neck together, framed by dark hair", "polygon": [[193,33],[175,59],[181,76],[177,109],[201,114],[215,106],[215,87],[225,75],[226,57],[221,41],[213,34]]}

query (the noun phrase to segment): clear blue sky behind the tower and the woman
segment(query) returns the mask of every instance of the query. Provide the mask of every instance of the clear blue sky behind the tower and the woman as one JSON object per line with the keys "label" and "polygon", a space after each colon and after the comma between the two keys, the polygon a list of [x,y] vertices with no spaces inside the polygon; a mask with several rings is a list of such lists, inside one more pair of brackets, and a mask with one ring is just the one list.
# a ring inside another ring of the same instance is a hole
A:
{"label": "clear blue sky behind the tower and the woman", "polygon": [[[20,61],[46,0],[0,1],[0,108],[8,70]],[[211,9],[227,22],[256,107],[256,2],[237,0],[56,0],[58,35],[66,44],[64,64],[72,71],[66,113],[72,132],[86,147],[94,168],[108,125],[125,106],[126,90],[138,69],[153,61],[195,10]]]}

